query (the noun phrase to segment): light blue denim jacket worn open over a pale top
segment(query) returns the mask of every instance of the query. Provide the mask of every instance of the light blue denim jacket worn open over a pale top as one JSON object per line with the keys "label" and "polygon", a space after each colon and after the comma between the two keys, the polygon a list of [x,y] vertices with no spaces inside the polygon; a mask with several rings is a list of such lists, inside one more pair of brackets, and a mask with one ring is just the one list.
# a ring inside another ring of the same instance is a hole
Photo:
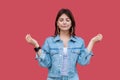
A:
{"label": "light blue denim jacket worn open over a pale top", "polygon": [[[42,53],[37,54],[36,59],[43,67],[48,68],[48,80],[56,80],[61,77],[63,62],[63,42],[59,35],[48,37],[42,46]],[[84,40],[77,36],[71,36],[68,42],[68,78],[79,80],[76,64],[87,65],[90,62],[92,52],[85,48]],[[51,79],[50,79],[51,78]],[[52,79],[53,78],[53,79]]]}

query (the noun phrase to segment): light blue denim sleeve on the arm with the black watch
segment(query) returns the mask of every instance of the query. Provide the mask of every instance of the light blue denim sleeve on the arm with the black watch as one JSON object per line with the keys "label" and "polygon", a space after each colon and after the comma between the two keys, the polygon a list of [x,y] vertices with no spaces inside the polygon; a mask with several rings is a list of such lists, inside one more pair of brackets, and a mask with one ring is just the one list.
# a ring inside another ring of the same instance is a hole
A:
{"label": "light blue denim sleeve on the arm with the black watch", "polygon": [[36,59],[42,67],[49,68],[51,66],[48,39],[45,40],[44,45],[42,46],[41,54],[38,55],[38,53],[36,53]]}

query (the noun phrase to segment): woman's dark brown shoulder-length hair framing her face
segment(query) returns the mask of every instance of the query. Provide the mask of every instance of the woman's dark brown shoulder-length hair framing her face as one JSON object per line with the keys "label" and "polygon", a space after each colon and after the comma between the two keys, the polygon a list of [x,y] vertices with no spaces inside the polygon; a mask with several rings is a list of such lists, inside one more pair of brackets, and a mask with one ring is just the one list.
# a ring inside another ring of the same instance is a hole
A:
{"label": "woman's dark brown shoulder-length hair framing her face", "polygon": [[55,33],[54,33],[54,36],[56,36],[57,34],[59,34],[58,31],[60,31],[60,30],[58,30],[57,21],[58,21],[59,17],[62,14],[66,14],[70,18],[71,24],[72,24],[71,28],[70,28],[70,35],[75,36],[75,20],[74,20],[72,12],[69,9],[61,9],[58,12],[56,20],[55,20]]}

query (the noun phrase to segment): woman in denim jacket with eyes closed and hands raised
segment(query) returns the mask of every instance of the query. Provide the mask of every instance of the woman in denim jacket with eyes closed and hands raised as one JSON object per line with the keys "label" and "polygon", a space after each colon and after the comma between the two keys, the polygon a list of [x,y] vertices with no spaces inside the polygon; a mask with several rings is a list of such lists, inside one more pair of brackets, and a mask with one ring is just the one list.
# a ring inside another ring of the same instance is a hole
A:
{"label": "woman in denim jacket with eyes closed and hands raised", "polygon": [[93,37],[86,48],[84,40],[75,35],[75,20],[69,9],[58,12],[55,34],[45,40],[42,48],[30,34],[26,35],[26,41],[35,47],[39,64],[48,68],[47,80],[79,80],[76,64],[87,65],[93,45],[100,40],[102,34]]}

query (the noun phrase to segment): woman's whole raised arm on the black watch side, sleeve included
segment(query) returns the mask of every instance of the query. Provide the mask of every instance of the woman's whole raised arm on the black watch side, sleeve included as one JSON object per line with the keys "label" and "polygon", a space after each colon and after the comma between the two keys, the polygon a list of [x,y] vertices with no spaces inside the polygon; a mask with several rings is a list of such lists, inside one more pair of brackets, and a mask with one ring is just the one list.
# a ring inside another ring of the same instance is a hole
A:
{"label": "woman's whole raised arm on the black watch side, sleeve included", "polygon": [[[35,48],[39,47],[38,42],[33,39],[30,34],[26,35],[26,41],[33,45]],[[45,41],[44,45],[42,46],[42,49],[38,49],[38,51],[36,52],[36,60],[38,60],[39,64],[42,67],[50,67],[51,66],[51,58],[49,55],[49,47],[48,47],[48,42],[47,40]]]}

